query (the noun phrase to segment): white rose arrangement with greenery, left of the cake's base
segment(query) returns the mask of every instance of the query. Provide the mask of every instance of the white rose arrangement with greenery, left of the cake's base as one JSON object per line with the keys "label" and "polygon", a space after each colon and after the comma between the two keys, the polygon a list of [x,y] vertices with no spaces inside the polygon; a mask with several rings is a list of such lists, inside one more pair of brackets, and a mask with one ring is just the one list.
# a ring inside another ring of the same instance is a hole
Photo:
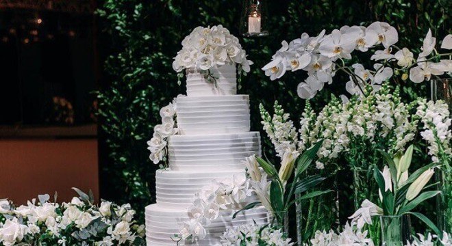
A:
{"label": "white rose arrangement with greenery, left of the cake's base", "polygon": [[134,220],[129,204],[94,204],[92,193],[69,203],[49,202],[40,195],[27,205],[0,201],[0,245],[145,245],[145,227]]}

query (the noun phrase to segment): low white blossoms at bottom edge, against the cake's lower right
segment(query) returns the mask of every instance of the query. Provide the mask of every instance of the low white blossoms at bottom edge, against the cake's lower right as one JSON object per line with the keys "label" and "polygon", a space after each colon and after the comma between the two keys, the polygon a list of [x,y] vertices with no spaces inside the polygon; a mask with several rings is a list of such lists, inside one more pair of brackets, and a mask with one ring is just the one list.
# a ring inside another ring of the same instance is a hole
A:
{"label": "low white blossoms at bottom edge, against the cake's lower right", "polygon": [[271,228],[270,226],[242,225],[236,228],[229,228],[221,236],[221,245],[223,246],[292,246],[281,229]]}

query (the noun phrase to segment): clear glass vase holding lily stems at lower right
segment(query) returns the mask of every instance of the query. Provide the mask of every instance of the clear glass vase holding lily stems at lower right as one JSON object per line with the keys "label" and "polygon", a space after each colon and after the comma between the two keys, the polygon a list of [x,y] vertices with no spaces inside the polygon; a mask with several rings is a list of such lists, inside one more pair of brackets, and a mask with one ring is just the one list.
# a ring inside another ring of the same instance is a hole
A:
{"label": "clear glass vase holding lily stems at lower right", "polygon": [[380,226],[382,246],[403,246],[411,241],[409,215],[380,216]]}

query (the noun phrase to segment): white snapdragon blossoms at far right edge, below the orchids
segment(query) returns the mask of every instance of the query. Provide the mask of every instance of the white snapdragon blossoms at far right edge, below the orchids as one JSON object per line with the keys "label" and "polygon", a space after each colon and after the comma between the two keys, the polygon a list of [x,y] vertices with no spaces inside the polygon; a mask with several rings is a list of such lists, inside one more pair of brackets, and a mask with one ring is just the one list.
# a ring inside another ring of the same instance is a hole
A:
{"label": "white snapdragon blossoms at far right edge, below the orchids", "polygon": [[437,102],[423,100],[419,102],[416,115],[423,123],[424,131],[420,132],[420,135],[429,143],[431,160],[439,163],[441,157],[450,158],[452,155],[452,119],[449,116],[450,111],[447,104],[442,100]]}

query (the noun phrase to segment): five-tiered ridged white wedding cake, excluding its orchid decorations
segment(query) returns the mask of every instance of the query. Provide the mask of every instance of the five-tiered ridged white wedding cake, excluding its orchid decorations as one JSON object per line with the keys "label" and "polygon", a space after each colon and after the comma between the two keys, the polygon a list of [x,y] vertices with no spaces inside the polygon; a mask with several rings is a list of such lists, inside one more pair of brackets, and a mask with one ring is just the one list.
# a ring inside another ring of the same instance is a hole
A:
{"label": "five-tiered ridged white wedding cake, excluding its orchid decorations", "polygon": [[[216,83],[206,81],[195,70],[187,75],[187,96],[177,98],[180,135],[168,139],[169,169],[156,174],[157,204],[146,208],[147,245],[176,245],[171,239],[188,220],[187,208],[194,193],[214,179],[231,178],[244,172],[241,164],[252,154],[260,155],[260,135],[249,131],[249,98],[236,95],[236,68],[211,69]],[[255,197],[249,197],[250,202]],[[221,245],[227,228],[243,223],[267,223],[263,207],[239,213],[223,210],[208,226],[208,234],[195,243]]]}

